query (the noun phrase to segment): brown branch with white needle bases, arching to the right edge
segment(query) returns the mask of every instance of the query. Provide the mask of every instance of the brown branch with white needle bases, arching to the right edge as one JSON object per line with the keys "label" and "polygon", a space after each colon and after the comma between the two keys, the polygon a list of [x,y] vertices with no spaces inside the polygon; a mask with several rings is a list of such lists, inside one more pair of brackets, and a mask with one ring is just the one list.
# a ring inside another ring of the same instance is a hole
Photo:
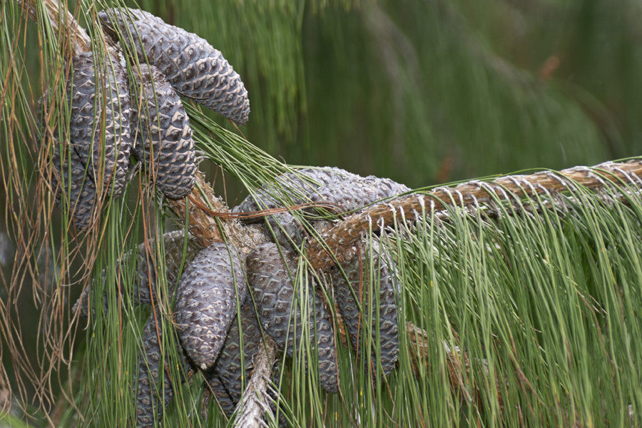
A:
{"label": "brown branch with white needle bases, arching to the right edge", "polygon": [[601,163],[592,168],[578,166],[554,171],[542,171],[530,175],[506,175],[489,182],[469,181],[452,188],[437,188],[425,195],[407,195],[389,203],[374,205],[372,208],[350,216],[335,227],[322,233],[320,240],[311,241],[307,255],[315,269],[327,270],[335,258],[343,262],[342,255],[360,240],[374,225],[386,227],[394,225],[402,213],[425,213],[427,210],[444,210],[447,205],[461,206],[474,203],[492,203],[495,198],[534,197],[543,193],[568,190],[570,185],[580,185],[594,189],[606,183],[626,185],[631,183],[631,175],[642,176],[642,160],[626,163]]}

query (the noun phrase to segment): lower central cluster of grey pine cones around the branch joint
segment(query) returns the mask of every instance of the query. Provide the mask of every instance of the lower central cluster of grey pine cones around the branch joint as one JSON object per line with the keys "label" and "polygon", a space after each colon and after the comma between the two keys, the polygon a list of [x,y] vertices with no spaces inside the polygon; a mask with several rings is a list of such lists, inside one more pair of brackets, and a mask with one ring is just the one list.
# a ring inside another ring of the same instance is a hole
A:
{"label": "lower central cluster of grey pine cones around the branch joint", "polygon": [[[360,177],[339,168],[309,168],[287,173],[277,178],[277,185],[287,188],[293,203],[330,203],[345,211],[360,210],[409,190],[392,180]],[[279,204],[270,196],[274,190],[272,186],[258,190],[234,211],[275,208]],[[321,219],[311,223],[317,230],[331,225]],[[184,357],[186,370],[191,368],[203,373],[207,388],[225,414],[230,416],[235,410],[243,393],[243,382],[249,379],[253,357],[263,345],[264,333],[289,357],[305,347],[305,342],[312,341],[317,350],[320,385],[327,392],[337,392],[340,377],[335,322],[330,315],[332,298],[358,357],[371,355],[372,367],[381,367],[385,375],[394,369],[399,350],[395,301],[399,290],[394,263],[379,248],[376,236],[357,245],[349,262],[324,272],[326,275],[310,275],[325,277],[325,282],[312,280],[314,285],[310,289],[295,290],[297,272],[306,269],[305,265],[299,266],[295,256],[295,248],[302,244],[306,234],[295,216],[291,213],[270,215],[265,225],[247,224],[243,228],[259,235],[254,248],[247,251],[230,242],[201,249],[195,239],[188,240],[187,267],[180,279],[183,232],[163,237],[168,292],[175,294],[173,320],[182,347],[179,355]],[[276,233],[277,230],[280,232]],[[284,245],[275,241],[282,241]],[[145,246],[141,244],[137,255],[121,263],[136,263],[138,281],[133,302],[151,302],[155,298],[151,292],[156,290],[156,277],[155,269],[148,263]],[[176,282],[178,286],[174,288]],[[93,300],[90,293],[88,288],[74,310],[88,315],[89,302]],[[327,300],[326,296],[333,297]],[[161,366],[161,337],[157,327],[160,316],[152,314],[143,330],[137,389],[136,424],[139,427],[153,426],[154,415],[160,417],[173,397],[173,382],[183,381],[170,379]],[[366,327],[367,324],[370,327]],[[372,337],[365,337],[365,332]],[[380,345],[378,354],[372,347],[376,342]],[[307,361],[304,364],[309,367]],[[161,379],[162,399],[157,392]]]}

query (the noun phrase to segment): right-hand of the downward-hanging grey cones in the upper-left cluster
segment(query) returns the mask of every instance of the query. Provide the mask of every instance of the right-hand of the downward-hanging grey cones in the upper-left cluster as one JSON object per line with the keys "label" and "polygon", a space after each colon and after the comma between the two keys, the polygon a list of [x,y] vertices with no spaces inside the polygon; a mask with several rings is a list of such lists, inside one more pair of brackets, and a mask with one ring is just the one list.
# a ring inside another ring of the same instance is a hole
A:
{"label": "right-hand of the downward-hanging grey cones in the upper-left cluster", "polygon": [[148,176],[167,198],[178,199],[190,193],[196,180],[192,128],[180,97],[161,71],[141,64],[137,91],[140,111],[138,135],[133,154],[143,162]]}

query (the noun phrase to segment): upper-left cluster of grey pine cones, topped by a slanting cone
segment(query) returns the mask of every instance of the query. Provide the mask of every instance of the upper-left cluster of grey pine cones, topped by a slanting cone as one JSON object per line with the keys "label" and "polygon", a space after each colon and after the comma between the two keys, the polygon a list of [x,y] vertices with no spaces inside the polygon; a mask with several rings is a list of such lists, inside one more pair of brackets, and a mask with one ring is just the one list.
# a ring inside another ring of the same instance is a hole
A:
{"label": "upper-left cluster of grey pine cones, topped by a slanting cone", "polygon": [[[72,58],[66,88],[71,141],[61,145],[52,134],[56,201],[65,198],[80,229],[91,224],[99,200],[121,194],[130,155],[165,197],[190,192],[197,168],[180,96],[238,125],[250,114],[240,76],[205,39],[141,10],[108,9],[98,17],[120,48]],[[132,64],[129,78],[123,54]]]}

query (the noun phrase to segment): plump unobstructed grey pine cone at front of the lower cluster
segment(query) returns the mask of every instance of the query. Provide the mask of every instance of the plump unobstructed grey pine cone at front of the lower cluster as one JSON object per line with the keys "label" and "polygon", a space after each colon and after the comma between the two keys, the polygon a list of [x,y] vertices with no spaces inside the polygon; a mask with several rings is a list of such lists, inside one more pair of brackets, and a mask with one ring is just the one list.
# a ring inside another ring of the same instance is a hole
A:
{"label": "plump unobstructed grey pine cone at front of the lower cluster", "polygon": [[174,306],[178,336],[195,365],[207,370],[223,347],[247,285],[245,260],[233,245],[202,250],[178,283]]}

